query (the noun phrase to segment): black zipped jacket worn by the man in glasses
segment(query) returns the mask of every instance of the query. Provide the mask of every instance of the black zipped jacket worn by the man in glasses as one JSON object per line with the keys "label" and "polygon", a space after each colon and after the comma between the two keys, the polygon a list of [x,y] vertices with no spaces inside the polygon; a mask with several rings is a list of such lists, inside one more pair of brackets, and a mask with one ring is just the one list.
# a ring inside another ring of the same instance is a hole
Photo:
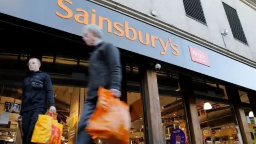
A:
{"label": "black zipped jacket worn by the man in glasses", "polygon": [[[34,85],[35,82],[42,85]],[[42,71],[31,72],[24,79],[22,93],[20,115],[28,110],[46,108],[47,100],[50,106],[55,106],[51,77]]]}

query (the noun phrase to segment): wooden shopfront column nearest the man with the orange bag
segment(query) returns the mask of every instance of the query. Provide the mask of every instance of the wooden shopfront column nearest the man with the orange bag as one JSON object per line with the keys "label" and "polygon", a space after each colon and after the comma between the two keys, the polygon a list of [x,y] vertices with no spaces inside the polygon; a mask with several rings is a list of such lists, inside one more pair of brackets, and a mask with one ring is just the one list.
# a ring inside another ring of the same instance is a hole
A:
{"label": "wooden shopfront column nearest the man with the orange bag", "polygon": [[147,144],[162,144],[163,127],[159,102],[156,71],[145,66],[139,66],[141,76],[141,98],[143,106],[143,120],[145,123],[145,140]]}

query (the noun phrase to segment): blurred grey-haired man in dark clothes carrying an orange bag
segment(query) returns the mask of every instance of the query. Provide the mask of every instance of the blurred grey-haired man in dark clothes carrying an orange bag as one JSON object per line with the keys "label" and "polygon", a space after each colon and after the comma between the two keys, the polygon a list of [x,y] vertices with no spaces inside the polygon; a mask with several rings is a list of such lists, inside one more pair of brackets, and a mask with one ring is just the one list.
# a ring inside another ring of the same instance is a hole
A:
{"label": "blurred grey-haired man in dark clothes carrying an orange bag", "polygon": [[[97,25],[87,25],[83,29],[83,40],[92,49],[89,59],[89,83],[83,113],[79,119],[77,143],[92,143],[91,135],[85,132],[87,121],[97,103],[99,86],[121,96],[122,67],[120,53],[113,44],[102,41],[102,31]],[[104,105],[104,103],[102,103]]]}

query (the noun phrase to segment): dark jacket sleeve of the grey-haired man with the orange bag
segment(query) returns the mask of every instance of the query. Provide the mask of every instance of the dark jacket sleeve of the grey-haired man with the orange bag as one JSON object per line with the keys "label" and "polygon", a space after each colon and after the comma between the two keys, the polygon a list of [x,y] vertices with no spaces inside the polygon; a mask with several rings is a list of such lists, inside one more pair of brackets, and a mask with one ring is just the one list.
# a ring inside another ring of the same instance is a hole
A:
{"label": "dark jacket sleeve of the grey-haired man with the orange bag", "polygon": [[121,91],[122,84],[122,66],[120,52],[113,44],[108,43],[105,47],[105,58],[110,70],[110,89]]}

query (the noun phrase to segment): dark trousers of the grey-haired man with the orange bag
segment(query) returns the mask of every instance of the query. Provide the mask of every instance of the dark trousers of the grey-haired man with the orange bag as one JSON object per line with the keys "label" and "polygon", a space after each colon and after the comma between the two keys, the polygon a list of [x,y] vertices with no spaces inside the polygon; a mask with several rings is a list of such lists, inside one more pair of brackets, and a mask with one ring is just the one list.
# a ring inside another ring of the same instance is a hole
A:
{"label": "dark trousers of the grey-haired man with the orange bag", "polygon": [[84,102],[84,109],[81,117],[78,122],[78,130],[77,130],[77,144],[91,144],[93,140],[91,135],[85,132],[85,127],[87,125],[87,121],[91,117],[93,111],[95,110],[97,104],[97,95],[92,97],[91,95],[87,97]]}

